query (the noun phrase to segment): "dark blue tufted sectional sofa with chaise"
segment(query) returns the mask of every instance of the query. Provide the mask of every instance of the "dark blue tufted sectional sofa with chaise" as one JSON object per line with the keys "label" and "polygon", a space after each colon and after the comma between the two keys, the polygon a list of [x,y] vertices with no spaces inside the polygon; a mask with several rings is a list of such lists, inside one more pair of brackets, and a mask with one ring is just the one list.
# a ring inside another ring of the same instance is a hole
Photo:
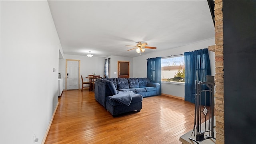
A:
{"label": "dark blue tufted sectional sofa with chaise", "polygon": [[[124,98],[119,95],[120,91],[122,94],[124,92],[132,93],[129,105],[113,99],[116,96]],[[94,93],[96,101],[113,116],[116,116],[134,110],[140,111],[143,97],[160,95],[160,84],[151,83],[148,78],[96,79]]]}

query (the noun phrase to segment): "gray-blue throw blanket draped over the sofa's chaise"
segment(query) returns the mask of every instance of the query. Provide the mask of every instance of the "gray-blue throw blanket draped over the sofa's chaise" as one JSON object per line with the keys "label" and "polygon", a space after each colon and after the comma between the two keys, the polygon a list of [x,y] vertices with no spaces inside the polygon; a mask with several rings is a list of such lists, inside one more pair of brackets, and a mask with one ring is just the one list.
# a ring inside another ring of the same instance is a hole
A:
{"label": "gray-blue throw blanket draped over the sofa's chaise", "polygon": [[116,100],[119,103],[123,103],[124,105],[129,106],[132,102],[132,91],[119,91],[118,94],[113,95],[110,100]]}

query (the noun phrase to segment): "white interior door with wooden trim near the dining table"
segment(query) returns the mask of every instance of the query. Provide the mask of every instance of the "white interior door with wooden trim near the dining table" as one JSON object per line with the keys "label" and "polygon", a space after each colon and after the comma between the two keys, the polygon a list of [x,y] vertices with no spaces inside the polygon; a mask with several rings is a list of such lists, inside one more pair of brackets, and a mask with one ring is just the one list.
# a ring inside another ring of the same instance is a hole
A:
{"label": "white interior door with wooden trim near the dining table", "polygon": [[67,61],[67,90],[78,89],[79,61]]}

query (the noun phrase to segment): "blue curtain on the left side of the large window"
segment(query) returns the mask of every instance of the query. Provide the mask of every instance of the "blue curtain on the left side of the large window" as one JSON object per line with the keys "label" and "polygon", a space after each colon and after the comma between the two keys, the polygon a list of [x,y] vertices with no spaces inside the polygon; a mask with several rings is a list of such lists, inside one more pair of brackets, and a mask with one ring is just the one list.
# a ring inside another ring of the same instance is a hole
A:
{"label": "blue curtain on the left side of the large window", "polygon": [[147,59],[147,78],[150,79],[152,83],[160,84],[161,93],[161,57]]}

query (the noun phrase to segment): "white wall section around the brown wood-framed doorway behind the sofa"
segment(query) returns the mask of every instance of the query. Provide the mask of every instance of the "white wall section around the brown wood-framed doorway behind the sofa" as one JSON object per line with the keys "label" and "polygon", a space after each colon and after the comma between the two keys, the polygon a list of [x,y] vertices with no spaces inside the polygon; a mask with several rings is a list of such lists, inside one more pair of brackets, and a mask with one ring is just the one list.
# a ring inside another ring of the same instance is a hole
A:
{"label": "white wall section around the brown wood-framed doorway behind the sofa", "polygon": [[[120,57],[111,55],[105,59],[110,58],[110,75],[109,78],[118,77],[118,61],[129,61],[129,77],[133,77],[133,59],[131,57]],[[115,74],[116,72],[116,74]]]}

